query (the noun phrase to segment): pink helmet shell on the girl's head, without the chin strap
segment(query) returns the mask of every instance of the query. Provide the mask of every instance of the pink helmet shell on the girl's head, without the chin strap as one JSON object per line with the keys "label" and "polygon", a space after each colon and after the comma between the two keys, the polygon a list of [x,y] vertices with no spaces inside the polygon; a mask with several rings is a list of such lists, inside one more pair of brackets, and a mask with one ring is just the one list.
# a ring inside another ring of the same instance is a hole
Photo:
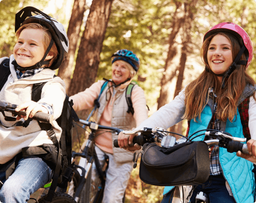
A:
{"label": "pink helmet shell on the girl's head, without the chin strap", "polygon": [[[245,47],[245,50],[242,53],[239,53],[237,55],[237,61],[234,61],[236,64],[238,60],[240,59],[241,55],[244,53],[246,56],[246,68],[248,68],[249,64],[251,63],[253,59],[253,45],[252,41],[249,37],[249,35],[245,32],[243,28],[241,28],[239,25],[236,25],[232,22],[221,22],[218,25],[213,26],[203,37],[203,41],[208,38],[210,35],[217,33],[217,32],[228,32],[231,35],[234,35],[241,46],[241,49],[243,49],[243,46]],[[242,63],[243,64],[243,63]]]}

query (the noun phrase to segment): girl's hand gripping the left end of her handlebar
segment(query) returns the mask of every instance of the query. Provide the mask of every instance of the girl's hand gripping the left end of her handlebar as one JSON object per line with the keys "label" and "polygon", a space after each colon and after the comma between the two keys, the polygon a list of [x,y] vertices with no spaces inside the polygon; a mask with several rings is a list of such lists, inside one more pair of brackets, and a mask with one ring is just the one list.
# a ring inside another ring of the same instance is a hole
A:
{"label": "girl's hand gripping the left end of her handlebar", "polygon": [[118,145],[122,149],[126,149],[128,151],[134,152],[136,150],[141,149],[137,143],[133,145],[132,140],[136,135],[125,135],[124,133],[118,134]]}

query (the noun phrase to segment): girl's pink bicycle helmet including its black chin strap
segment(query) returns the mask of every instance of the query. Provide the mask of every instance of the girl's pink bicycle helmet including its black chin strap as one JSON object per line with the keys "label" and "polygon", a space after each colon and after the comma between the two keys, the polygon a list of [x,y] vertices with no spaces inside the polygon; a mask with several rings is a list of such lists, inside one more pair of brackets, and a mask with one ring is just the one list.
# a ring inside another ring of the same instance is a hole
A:
{"label": "girl's pink bicycle helmet including its black chin strap", "polygon": [[[216,73],[213,73],[213,71],[210,70],[209,67],[207,66],[205,67],[205,70],[207,72],[210,72],[216,76],[223,76],[223,79],[224,79],[230,76],[230,74],[237,68],[237,65],[246,65],[246,68],[249,67],[249,64],[253,59],[253,45],[246,31],[243,28],[241,28],[239,25],[236,25],[235,23],[232,23],[232,22],[221,22],[213,26],[204,35],[203,41],[205,41],[208,37],[210,37],[210,35],[213,35],[218,32],[227,32],[233,35],[240,44],[240,51],[236,55],[235,60],[233,61],[229,69],[226,71],[226,73],[216,74]],[[246,60],[240,60],[240,57],[242,56],[242,54],[245,54]]]}

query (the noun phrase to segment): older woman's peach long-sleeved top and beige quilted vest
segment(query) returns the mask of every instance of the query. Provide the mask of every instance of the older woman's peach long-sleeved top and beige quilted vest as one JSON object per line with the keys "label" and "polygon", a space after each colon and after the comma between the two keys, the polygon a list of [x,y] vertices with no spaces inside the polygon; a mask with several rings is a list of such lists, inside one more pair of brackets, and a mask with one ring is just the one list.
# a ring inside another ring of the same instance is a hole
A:
{"label": "older woman's peach long-sleeved top and beige quilted vest", "polygon": [[[144,91],[137,85],[134,86],[131,93],[131,101],[135,113],[132,115],[126,112],[128,105],[125,99],[125,89],[130,82],[126,82],[120,87],[115,88],[115,91],[113,87],[109,88],[110,82],[108,82],[108,87],[105,88],[99,99],[100,107],[96,111],[96,122],[98,124],[131,130],[148,118]],[[70,99],[73,99],[73,108],[75,111],[94,106],[94,100],[98,98],[103,83],[104,80],[95,82],[91,87],[85,89],[85,91],[71,96]],[[95,144],[103,151],[113,153],[116,162],[131,161],[134,154],[113,146],[113,140],[117,139],[117,137],[118,135],[116,134],[101,133],[95,138]]]}

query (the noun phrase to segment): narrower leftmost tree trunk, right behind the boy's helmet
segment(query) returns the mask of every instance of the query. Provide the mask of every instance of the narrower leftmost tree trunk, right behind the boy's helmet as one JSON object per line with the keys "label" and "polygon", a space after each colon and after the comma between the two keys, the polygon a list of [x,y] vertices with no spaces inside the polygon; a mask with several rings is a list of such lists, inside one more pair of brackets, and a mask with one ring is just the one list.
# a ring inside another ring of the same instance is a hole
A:
{"label": "narrower leftmost tree trunk, right behind the boy's helmet", "polygon": [[67,35],[69,38],[69,53],[66,60],[59,67],[58,76],[66,83],[66,92],[69,90],[72,66],[75,59],[75,50],[77,48],[77,42],[79,41],[79,33],[81,30],[82,19],[85,12],[85,0],[74,0],[72,8],[72,14],[69,20],[69,28]]}

